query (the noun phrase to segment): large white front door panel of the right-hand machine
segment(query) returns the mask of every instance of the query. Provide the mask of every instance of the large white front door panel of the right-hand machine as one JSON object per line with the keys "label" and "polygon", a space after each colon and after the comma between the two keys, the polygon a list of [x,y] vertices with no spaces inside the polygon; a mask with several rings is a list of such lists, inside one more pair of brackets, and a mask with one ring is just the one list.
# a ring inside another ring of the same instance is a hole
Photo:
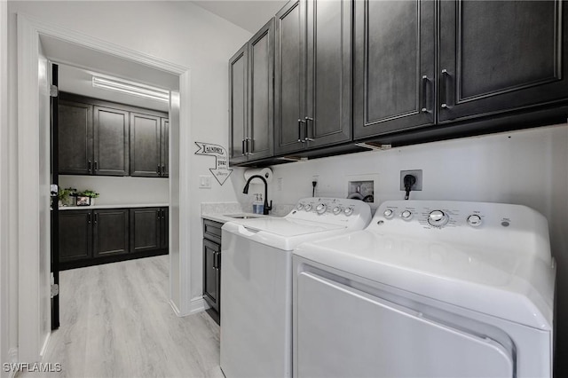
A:
{"label": "large white front door panel of the right-hand machine", "polygon": [[297,275],[299,377],[513,377],[500,343],[312,272]]}

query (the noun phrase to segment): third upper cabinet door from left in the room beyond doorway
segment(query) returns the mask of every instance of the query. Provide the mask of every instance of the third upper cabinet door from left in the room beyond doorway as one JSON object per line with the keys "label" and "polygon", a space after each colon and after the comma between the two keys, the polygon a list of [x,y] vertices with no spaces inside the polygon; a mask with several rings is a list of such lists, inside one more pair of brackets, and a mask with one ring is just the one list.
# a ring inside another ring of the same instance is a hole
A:
{"label": "third upper cabinet door from left in the room beyond doorway", "polygon": [[161,175],[161,133],[160,117],[130,114],[130,176]]}

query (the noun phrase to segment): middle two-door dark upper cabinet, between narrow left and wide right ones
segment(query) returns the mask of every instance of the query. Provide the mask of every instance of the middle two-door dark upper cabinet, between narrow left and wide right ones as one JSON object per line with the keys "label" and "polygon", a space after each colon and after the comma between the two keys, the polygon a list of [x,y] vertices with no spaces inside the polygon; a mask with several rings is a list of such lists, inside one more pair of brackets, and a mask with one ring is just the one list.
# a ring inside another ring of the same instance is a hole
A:
{"label": "middle two-door dark upper cabinet, between narrow left and wide right ones", "polygon": [[276,15],[274,152],[351,140],[352,2],[290,2]]}

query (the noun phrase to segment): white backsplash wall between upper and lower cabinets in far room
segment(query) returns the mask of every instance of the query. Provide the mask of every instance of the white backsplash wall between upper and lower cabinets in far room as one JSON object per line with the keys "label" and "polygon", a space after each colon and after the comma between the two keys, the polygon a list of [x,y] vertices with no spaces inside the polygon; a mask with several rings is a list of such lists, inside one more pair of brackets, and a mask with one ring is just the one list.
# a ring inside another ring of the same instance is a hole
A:
{"label": "white backsplash wall between upper and lower cabinets in far room", "polygon": [[59,187],[99,193],[97,205],[168,203],[169,181],[158,177],[59,176]]}

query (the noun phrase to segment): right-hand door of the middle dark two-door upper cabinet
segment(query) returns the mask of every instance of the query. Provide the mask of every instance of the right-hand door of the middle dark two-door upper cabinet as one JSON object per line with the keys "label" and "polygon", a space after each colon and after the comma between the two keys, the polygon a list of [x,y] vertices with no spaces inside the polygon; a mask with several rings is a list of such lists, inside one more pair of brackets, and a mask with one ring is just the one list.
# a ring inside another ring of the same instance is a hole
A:
{"label": "right-hand door of the middle dark two-door upper cabinet", "polygon": [[352,4],[351,0],[306,3],[308,147],[351,139]]}

